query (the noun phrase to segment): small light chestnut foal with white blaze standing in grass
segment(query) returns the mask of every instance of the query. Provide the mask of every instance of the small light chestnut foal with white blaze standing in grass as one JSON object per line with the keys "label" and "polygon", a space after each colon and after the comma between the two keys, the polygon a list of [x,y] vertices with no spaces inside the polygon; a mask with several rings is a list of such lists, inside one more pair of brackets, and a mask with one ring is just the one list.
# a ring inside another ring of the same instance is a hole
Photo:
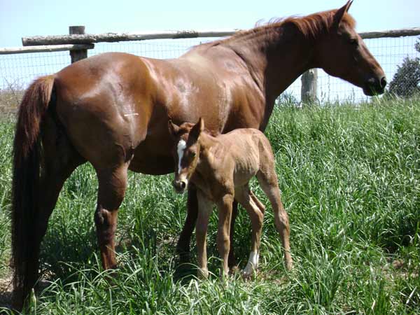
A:
{"label": "small light chestnut foal with white blaze standing in grass", "polygon": [[256,176],[274,212],[274,223],[283,244],[286,268],[292,268],[289,244],[288,215],[281,203],[274,154],[268,139],[260,130],[240,128],[211,136],[204,131],[204,120],[181,126],[169,121],[169,132],[176,144],[174,160],[178,165],[173,182],[177,192],[183,193],[189,183],[197,188],[198,218],[195,226],[199,275],[207,278],[206,235],[213,204],[218,208],[217,248],[223,259],[223,274],[229,272],[230,221],[232,203],[237,200],[251,218],[252,241],[248,264],[242,271],[249,277],[258,267],[260,237],[264,205],[249,189],[249,181]]}

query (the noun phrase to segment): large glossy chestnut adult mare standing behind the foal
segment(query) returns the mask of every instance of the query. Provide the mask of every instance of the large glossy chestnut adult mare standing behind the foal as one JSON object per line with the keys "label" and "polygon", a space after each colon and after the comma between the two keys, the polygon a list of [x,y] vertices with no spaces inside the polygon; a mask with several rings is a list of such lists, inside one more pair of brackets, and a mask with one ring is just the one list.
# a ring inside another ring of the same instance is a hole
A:
{"label": "large glossy chestnut adult mare standing behind the foal", "polygon": [[[178,124],[203,117],[209,130],[222,133],[265,130],[276,97],[317,67],[365,94],[384,92],[384,71],[354,30],[350,5],[242,31],[177,59],[105,53],[35,80],[20,104],[13,144],[15,305],[22,306],[36,283],[39,248],[59,191],[84,162],[99,179],[94,223],[103,267],[113,268],[127,170],[174,171],[169,117]],[[180,253],[189,252],[196,218],[190,190]]]}

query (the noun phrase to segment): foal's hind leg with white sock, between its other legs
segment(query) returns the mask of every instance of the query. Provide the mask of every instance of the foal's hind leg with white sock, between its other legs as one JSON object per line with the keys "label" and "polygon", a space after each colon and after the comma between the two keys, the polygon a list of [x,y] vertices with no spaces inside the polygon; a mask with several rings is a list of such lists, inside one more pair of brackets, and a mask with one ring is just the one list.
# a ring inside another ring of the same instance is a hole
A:
{"label": "foal's hind leg with white sock, between its other legs", "polygon": [[258,268],[258,258],[260,255],[260,240],[262,231],[262,220],[264,218],[264,209],[260,200],[253,195],[248,186],[243,186],[235,190],[235,198],[246,209],[249,218],[251,218],[252,237],[251,237],[251,253],[249,254],[248,263],[242,271],[244,277],[251,276]]}

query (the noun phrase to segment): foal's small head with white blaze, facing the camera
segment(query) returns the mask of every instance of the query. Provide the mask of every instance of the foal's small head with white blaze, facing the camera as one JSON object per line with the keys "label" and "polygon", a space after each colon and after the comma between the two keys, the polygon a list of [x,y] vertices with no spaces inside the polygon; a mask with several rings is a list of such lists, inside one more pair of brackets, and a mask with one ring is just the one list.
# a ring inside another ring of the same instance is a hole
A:
{"label": "foal's small head with white blaze, facing the camera", "polygon": [[183,193],[200,159],[199,139],[204,130],[204,120],[200,118],[195,125],[183,123],[181,126],[169,120],[168,127],[176,143],[174,148],[175,179],[172,185],[178,193]]}

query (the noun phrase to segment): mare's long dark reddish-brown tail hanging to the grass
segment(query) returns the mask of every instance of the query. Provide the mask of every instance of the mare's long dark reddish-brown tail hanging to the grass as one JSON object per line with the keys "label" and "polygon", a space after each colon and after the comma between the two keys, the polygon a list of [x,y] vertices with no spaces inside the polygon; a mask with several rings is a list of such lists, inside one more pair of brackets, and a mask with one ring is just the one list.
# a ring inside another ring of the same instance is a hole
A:
{"label": "mare's long dark reddish-brown tail hanging to the grass", "polygon": [[42,163],[41,125],[54,76],[32,83],[20,104],[13,142],[12,259],[15,304],[22,304],[38,273],[36,229]]}

